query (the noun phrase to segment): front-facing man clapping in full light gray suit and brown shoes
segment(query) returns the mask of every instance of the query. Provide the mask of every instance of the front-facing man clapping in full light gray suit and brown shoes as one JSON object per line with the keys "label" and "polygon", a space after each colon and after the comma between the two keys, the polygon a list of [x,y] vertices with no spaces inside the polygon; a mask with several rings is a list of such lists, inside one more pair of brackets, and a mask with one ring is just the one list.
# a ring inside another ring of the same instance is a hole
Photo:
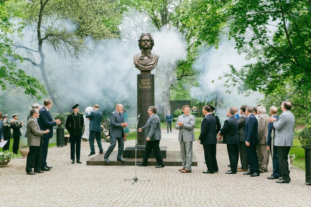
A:
{"label": "front-facing man clapping in full light gray suit and brown shoes", "polygon": [[190,114],[190,107],[184,105],[183,115],[180,115],[175,124],[175,129],[179,129],[178,141],[180,144],[181,159],[183,160],[183,167],[179,169],[182,173],[191,173],[192,163],[192,142],[194,138],[195,117]]}

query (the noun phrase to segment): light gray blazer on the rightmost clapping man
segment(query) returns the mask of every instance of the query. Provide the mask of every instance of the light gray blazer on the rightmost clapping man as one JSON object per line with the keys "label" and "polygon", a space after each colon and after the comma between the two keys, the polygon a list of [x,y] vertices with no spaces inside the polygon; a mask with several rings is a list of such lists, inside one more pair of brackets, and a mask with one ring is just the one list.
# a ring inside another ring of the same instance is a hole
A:
{"label": "light gray blazer on the rightmost clapping man", "polygon": [[275,128],[275,146],[293,146],[293,129],[295,116],[289,110],[284,111],[277,122],[273,122]]}

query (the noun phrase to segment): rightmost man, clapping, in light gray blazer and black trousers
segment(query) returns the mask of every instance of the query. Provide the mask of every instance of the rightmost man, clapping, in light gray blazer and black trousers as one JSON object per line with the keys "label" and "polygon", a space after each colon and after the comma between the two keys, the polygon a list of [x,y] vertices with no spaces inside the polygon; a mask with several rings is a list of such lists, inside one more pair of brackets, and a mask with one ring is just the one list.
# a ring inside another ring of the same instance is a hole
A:
{"label": "rightmost man, clapping, in light gray blazer and black trousers", "polygon": [[281,104],[281,114],[279,120],[275,117],[270,117],[268,120],[272,122],[275,128],[275,138],[274,145],[277,146],[277,151],[279,154],[279,166],[280,166],[280,180],[277,183],[289,183],[290,173],[288,170],[288,153],[290,152],[290,147],[293,146],[293,128],[295,124],[295,116],[290,111],[291,102],[284,101]]}

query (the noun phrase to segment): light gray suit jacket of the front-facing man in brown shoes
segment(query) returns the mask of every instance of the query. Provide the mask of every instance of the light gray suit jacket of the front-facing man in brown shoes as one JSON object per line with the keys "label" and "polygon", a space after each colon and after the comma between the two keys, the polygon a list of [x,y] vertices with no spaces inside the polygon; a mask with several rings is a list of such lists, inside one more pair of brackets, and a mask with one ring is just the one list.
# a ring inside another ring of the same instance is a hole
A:
{"label": "light gray suit jacket of the front-facing man in brown shoes", "polygon": [[194,131],[193,131],[193,128],[195,125],[195,117],[189,114],[188,116],[186,116],[185,120],[183,121],[184,123],[183,126],[179,127],[177,123],[182,120],[183,120],[183,115],[180,115],[175,124],[175,129],[179,129],[178,141],[181,142],[182,137],[183,137],[183,141],[185,142],[195,141]]}

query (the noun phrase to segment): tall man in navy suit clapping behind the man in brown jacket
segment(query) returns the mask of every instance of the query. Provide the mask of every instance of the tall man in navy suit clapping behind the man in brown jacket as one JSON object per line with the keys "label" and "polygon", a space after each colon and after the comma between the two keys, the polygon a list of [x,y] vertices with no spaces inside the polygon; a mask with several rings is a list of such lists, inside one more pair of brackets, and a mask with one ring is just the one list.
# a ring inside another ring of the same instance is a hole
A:
{"label": "tall man in navy suit clapping behind the man in brown jacket", "polygon": [[52,166],[48,166],[46,162],[46,157],[48,155],[48,148],[49,148],[49,141],[53,137],[53,126],[56,126],[56,124],[60,124],[61,121],[59,119],[56,119],[53,121],[52,115],[50,114],[49,110],[51,109],[53,102],[50,99],[46,99],[43,102],[43,107],[39,110],[39,118],[38,118],[38,124],[41,130],[45,131],[49,129],[49,133],[46,133],[42,136],[43,138],[43,146],[42,146],[42,171],[49,171],[52,169]]}

